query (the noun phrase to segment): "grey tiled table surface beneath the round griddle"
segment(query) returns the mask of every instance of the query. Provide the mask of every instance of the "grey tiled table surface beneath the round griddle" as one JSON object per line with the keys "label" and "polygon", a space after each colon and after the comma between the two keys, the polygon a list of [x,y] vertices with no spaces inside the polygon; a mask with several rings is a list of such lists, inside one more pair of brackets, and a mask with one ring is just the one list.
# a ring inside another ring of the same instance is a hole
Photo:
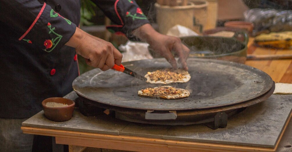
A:
{"label": "grey tiled table surface beneath the round griddle", "polygon": [[[75,92],[65,98],[76,99]],[[226,128],[210,129],[205,125],[149,125],[127,122],[100,114],[84,116],[75,108],[72,119],[48,120],[41,111],[22,123],[23,126],[62,129],[102,134],[152,137],[184,141],[274,148],[292,109],[292,95],[273,94],[266,101],[247,107],[228,118]]]}

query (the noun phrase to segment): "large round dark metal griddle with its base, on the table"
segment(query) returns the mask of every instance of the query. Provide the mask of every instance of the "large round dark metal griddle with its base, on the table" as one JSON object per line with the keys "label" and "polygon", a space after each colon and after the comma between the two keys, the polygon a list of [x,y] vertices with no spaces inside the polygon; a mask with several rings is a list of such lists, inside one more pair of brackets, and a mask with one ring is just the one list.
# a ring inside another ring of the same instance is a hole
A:
{"label": "large round dark metal griddle with its base, on the table", "polygon": [[[162,58],[131,61],[124,65],[139,69],[141,73],[169,66]],[[205,124],[211,129],[226,127],[228,117],[266,100],[274,91],[275,84],[269,75],[246,65],[196,58],[188,59],[188,65],[192,79],[188,83],[177,84],[178,87],[194,90],[192,86],[201,86],[203,84],[200,82],[204,80],[208,85],[213,85],[212,89],[216,91],[212,98],[196,99],[190,96],[189,100],[183,99],[190,102],[170,100],[166,104],[162,101],[152,102],[151,99],[139,100],[136,99],[136,91],[150,84],[136,82],[134,78],[119,75],[115,71],[102,72],[98,69],[77,77],[72,86],[79,96],[80,111],[86,116],[100,114],[107,109],[107,112],[114,111],[110,115],[115,118],[130,122],[153,125]],[[221,89],[223,87],[225,89]]]}

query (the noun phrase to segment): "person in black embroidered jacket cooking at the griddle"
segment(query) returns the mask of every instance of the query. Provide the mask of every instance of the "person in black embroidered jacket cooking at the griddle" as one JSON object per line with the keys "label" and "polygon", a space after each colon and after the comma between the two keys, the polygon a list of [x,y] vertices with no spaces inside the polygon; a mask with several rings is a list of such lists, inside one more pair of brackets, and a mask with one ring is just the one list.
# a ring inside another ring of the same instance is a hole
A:
{"label": "person in black embroidered jacket cooking at the griddle", "polygon": [[[34,140],[34,151],[51,151],[50,138],[23,134],[21,122],[42,110],[42,100],[72,91],[79,75],[77,54],[101,70],[120,65],[122,55],[109,42],[78,28],[79,0],[0,2],[0,149],[32,151]],[[108,30],[149,43],[177,68],[171,54],[175,51],[187,70],[189,49],[180,39],[156,32],[135,1],[94,2],[114,23]]]}

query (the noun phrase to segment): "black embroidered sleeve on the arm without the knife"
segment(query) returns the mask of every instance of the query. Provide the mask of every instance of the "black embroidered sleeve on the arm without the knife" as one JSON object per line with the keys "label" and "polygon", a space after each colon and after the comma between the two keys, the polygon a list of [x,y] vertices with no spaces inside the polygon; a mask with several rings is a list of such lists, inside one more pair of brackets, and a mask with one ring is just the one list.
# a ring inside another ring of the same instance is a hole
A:
{"label": "black embroidered sleeve on the arm without the knife", "polygon": [[150,23],[134,0],[95,0],[95,4],[115,25],[107,26],[110,32],[126,34],[132,41],[139,41],[132,31]]}

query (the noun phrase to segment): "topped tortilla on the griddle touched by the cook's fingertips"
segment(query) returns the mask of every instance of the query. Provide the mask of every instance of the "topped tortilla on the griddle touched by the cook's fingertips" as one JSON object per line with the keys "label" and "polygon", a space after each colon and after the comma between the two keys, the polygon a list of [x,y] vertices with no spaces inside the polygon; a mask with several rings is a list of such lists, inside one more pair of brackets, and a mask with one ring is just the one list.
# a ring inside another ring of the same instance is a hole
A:
{"label": "topped tortilla on the griddle touched by the cook's fingertips", "polygon": [[[159,73],[161,80],[155,80],[151,75]],[[181,79],[176,79],[177,77],[183,76]],[[153,72],[147,72],[144,76],[148,83],[159,83],[159,84],[169,84],[169,83],[184,83],[191,79],[189,72],[183,69],[161,69]]]}

